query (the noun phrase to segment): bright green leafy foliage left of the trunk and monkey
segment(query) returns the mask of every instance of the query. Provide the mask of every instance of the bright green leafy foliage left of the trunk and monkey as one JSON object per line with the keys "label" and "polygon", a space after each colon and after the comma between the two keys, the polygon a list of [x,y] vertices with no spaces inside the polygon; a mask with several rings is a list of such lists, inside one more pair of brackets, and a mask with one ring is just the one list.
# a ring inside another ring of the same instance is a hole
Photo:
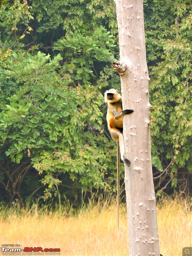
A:
{"label": "bright green leafy foliage left of the trunk and monkey", "polygon": [[116,77],[108,68],[114,39],[102,26],[107,16],[109,25],[112,9],[115,15],[114,5],[74,0],[29,4],[16,0],[1,6],[6,12],[0,14],[0,32],[7,22],[0,61],[4,159],[11,157],[21,166],[31,159],[45,185],[44,198],[52,196],[62,173],[69,177],[66,186],[110,188],[107,169],[113,154],[103,145],[113,142],[103,136],[104,129],[87,128],[102,127],[100,90]]}

